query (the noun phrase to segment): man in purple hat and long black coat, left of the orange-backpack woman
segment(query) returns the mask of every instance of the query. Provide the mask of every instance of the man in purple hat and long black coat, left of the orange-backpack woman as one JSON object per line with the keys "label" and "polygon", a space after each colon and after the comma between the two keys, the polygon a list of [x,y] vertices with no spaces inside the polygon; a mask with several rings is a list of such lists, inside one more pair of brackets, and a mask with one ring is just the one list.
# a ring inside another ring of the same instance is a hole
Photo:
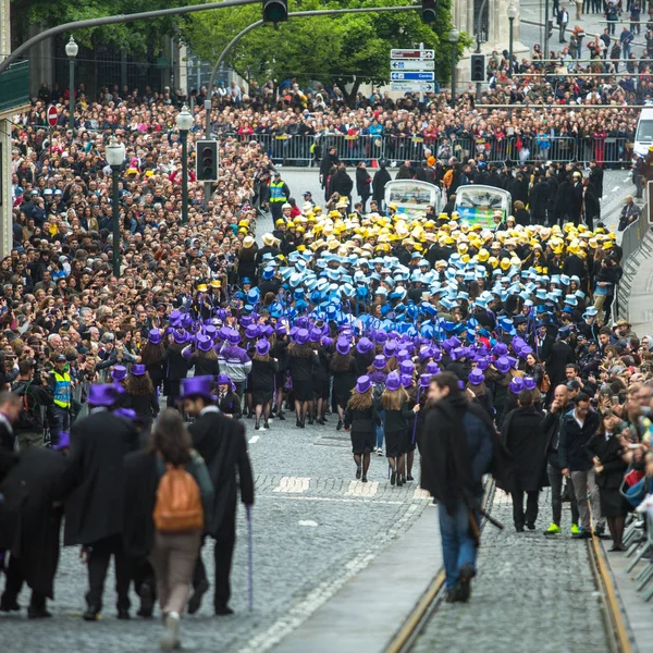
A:
{"label": "man in purple hat and long black coat, left of the orange-backpack woman", "polygon": [[95,621],[102,609],[109,560],[115,562],[118,617],[130,616],[131,569],[122,542],[123,458],[138,448],[138,431],[126,419],[109,412],[120,391],[115,385],[93,385],[88,395],[90,415],[71,429],[71,455],[63,475],[65,505],[63,543],[88,550],[87,611]]}

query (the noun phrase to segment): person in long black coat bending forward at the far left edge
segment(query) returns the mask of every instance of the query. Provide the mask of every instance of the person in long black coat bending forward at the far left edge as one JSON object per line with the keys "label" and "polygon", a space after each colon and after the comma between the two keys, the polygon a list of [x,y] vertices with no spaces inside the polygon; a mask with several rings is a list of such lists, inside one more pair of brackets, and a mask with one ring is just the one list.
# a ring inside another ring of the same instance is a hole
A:
{"label": "person in long black coat bending forward at the far left edge", "polygon": [[[32,589],[27,616],[50,617],[46,599],[54,599],[59,563],[61,477],[63,454],[32,447],[0,485],[4,495],[0,510],[0,547],[11,552],[0,611],[19,611],[17,597],[26,582]],[[10,526],[11,525],[11,526]]]}

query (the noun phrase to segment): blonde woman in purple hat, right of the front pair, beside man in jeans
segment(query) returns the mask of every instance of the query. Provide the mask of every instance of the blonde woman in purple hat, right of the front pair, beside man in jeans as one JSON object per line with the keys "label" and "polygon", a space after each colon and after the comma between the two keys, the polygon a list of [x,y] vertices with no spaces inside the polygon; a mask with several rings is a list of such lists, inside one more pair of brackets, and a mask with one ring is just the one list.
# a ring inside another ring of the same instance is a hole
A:
{"label": "blonde woman in purple hat, right of the front pair, beside man in jeans", "polygon": [[408,451],[408,432],[415,414],[408,393],[402,387],[398,372],[391,372],[385,379],[385,390],[381,395],[381,407],[385,411],[383,434],[385,457],[392,469],[390,484],[402,486],[406,482],[405,455]]}

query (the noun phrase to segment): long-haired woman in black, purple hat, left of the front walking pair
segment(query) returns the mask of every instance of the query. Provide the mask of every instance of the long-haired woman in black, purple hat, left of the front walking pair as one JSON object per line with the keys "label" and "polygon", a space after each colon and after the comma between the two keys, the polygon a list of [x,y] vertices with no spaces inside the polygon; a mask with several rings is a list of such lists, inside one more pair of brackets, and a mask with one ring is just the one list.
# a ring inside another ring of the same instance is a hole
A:
{"label": "long-haired woman in black, purple hat, left of the front walking pair", "polygon": [[374,448],[375,429],[380,423],[372,397],[372,380],[359,377],[352,390],[344,415],[345,429],[350,429],[352,452],[356,463],[356,478],[367,483],[370,454]]}

